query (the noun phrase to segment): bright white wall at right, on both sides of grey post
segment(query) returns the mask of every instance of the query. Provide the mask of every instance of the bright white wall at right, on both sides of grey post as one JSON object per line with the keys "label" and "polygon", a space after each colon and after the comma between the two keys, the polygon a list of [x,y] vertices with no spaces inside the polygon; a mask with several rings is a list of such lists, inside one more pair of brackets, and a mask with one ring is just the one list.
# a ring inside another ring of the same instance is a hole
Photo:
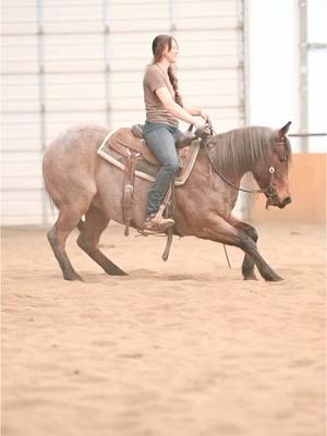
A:
{"label": "bright white wall at right, on both sides of grey post", "polygon": [[[327,2],[307,1],[307,41],[327,40]],[[249,0],[250,123],[300,131],[299,1]],[[326,49],[308,51],[308,131],[326,132]],[[308,138],[310,152],[326,152],[327,138]],[[294,150],[300,141],[292,138]]]}

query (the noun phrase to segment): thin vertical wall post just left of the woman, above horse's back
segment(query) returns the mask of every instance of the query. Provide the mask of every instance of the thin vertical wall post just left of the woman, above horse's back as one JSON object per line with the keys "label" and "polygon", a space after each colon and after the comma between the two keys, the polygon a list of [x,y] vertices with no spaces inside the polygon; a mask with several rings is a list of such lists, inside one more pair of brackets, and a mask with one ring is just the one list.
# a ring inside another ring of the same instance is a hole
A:
{"label": "thin vertical wall post just left of the woman, above horse's back", "polygon": [[111,65],[110,65],[110,4],[104,0],[105,15],[105,98],[106,98],[106,123],[111,129]]}

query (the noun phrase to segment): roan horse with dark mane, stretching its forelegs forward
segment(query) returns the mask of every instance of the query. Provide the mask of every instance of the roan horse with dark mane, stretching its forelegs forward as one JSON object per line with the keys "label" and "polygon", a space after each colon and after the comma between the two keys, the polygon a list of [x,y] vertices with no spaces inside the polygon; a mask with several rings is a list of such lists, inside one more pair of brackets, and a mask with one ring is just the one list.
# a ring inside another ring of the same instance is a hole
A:
{"label": "roan horse with dark mane, stretching its forelegs forward", "polygon": [[[258,253],[254,227],[232,215],[241,178],[252,172],[267,206],[291,203],[288,167],[291,147],[287,123],[280,130],[250,126],[208,138],[199,149],[187,181],[175,189],[174,234],[234,245],[245,253],[242,274],[256,279],[254,266],[265,280],[278,276]],[[65,241],[78,228],[78,246],[107,274],[125,275],[99,250],[110,219],[123,225],[121,197],[124,173],[97,155],[109,130],[99,125],[74,125],[52,141],[44,156],[45,186],[59,209],[48,232],[53,254],[66,280],[82,280],[65,252]],[[135,178],[134,228],[142,228],[150,182]],[[84,216],[84,221],[82,217]]]}

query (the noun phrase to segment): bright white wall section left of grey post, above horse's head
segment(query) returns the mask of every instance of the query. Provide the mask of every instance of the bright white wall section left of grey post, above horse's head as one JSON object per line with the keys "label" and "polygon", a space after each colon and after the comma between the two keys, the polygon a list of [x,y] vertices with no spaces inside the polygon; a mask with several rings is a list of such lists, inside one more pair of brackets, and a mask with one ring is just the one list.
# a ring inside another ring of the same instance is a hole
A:
{"label": "bright white wall section left of grey post, above horse's head", "polygon": [[296,0],[249,0],[250,123],[298,130]]}

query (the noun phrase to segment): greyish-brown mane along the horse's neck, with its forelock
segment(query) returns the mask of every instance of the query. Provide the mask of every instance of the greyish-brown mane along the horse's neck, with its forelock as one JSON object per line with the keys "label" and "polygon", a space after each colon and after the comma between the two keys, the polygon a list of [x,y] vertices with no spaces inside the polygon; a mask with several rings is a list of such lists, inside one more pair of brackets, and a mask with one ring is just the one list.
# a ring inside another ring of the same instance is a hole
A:
{"label": "greyish-brown mane along the horse's neck, with its forelock", "polygon": [[[210,159],[223,172],[249,171],[257,159],[267,165],[271,161],[275,131],[269,128],[251,126],[214,135],[208,142]],[[286,154],[291,155],[287,141]]]}

